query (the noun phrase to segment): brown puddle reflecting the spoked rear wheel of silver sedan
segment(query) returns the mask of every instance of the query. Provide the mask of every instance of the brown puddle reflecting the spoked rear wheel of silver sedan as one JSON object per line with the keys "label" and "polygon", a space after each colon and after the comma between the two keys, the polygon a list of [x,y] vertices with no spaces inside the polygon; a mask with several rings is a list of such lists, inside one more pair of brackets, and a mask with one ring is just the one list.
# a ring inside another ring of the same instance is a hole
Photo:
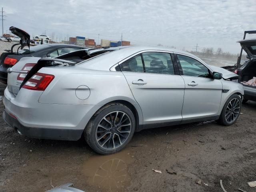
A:
{"label": "brown puddle reflecting the spoked rear wheel of silver sedan", "polygon": [[122,191],[130,184],[128,165],[133,158],[127,150],[108,156],[94,156],[84,163],[84,174],[90,186]]}

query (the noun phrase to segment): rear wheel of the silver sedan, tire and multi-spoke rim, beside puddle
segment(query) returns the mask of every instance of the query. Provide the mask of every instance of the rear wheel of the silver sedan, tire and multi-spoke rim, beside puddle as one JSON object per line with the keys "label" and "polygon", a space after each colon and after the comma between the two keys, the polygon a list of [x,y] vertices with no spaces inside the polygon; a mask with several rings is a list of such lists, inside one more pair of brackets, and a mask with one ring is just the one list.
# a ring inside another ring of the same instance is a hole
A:
{"label": "rear wheel of the silver sedan, tire and multi-spoke rim, beside puddle", "polygon": [[113,154],[130,142],[135,125],[134,115],[128,107],[111,103],[98,110],[90,119],[84,130],[84,138],[95,152]]}

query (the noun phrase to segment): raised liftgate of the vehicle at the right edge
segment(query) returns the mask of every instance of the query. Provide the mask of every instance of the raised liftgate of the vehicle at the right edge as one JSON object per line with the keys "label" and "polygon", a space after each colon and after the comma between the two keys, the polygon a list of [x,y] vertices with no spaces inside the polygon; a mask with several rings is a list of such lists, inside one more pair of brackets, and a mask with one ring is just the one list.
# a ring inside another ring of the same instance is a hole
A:
{"label": "raised liftgate of the vehicle at the right edge", "polygon": [[244,51],[248,54],[250,60],[256,59],[256,39],[244,39],[238,41]]}

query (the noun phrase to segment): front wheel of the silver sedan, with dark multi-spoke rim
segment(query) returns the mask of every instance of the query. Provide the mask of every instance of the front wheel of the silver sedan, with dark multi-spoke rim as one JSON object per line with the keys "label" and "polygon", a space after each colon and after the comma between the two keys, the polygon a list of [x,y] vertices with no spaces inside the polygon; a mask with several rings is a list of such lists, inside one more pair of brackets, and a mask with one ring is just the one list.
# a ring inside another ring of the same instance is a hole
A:
{"label": "front wheel of the silver sedan, with dark multi-spoke rim", "polygon": [[[234,104],[234,106],[232,104]],[[230,96],[230,98],[228,98],[224,107],[222,108],[222,112],[220,114],[220,118],[218,119],[218,123],[224,126],[230,126],[234,124],[234,122],[236,122],[236,120],[240,115],[241,108],[242,108],[242,101],[240,96],[238,94],[233,94],[232,96]],[[232,109],[232,110],[229,110],[229,109]],[[225,118],[225,115],[226,115],[226,118]],[[233,116],[233,120],[232,120],[232,116]]]}

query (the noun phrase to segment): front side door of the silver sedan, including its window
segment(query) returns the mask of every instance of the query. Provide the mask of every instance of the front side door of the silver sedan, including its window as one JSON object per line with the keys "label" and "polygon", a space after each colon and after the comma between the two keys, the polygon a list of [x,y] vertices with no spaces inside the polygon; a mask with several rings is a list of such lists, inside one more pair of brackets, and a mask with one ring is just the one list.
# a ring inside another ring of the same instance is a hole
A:
{"label": "front side door of the silver sedan, including its window", "polygon": [[196,58],[183,54],[175,56],[185,82],[182,121],[217,116],[222,96],[222,82],[213,79],[210,69]]}

